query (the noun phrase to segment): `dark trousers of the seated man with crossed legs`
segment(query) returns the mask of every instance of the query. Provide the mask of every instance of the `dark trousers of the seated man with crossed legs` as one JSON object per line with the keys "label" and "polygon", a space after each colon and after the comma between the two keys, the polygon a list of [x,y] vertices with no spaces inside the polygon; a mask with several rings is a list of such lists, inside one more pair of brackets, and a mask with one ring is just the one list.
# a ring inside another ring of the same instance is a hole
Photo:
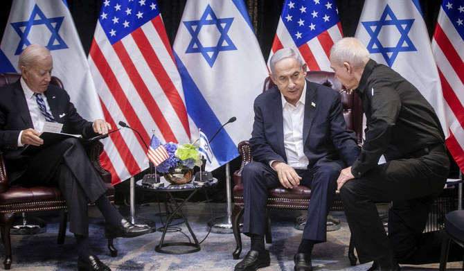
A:
{"label": "dark trousers of the seated man with crossed legs", "polygon": [[15,184],[60,187],[69,211],[69,231],[82,236],[89,236],[87,203],[107,190],[78,139],[65,139],[29,157]]}

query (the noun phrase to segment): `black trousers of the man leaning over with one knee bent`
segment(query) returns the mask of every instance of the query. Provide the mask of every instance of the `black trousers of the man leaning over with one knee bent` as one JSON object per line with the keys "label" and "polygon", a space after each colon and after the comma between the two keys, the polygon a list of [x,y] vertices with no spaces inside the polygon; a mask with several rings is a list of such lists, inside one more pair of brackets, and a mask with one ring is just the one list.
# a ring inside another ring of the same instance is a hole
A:
{"label": "black trousers of the man leaning over with one knee bent", "polygon": [[[434,198],[445,186],[449,158],[445,147],[419,157],[380,164],[340,189],[343,209],[360,263],[395,255],[398,260],[419,250]],[[389,235],[375,207],[391,202]]]}

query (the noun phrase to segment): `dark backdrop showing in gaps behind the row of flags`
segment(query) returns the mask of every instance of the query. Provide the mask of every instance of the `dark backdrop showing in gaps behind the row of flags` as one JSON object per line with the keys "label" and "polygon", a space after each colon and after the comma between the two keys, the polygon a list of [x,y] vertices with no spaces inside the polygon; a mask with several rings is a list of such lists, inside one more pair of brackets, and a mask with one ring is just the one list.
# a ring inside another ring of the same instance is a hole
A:
{"label": "dark backdrop showing in gaps behind the row of flags", "polygon": [[[93,39],[93,31],[95,30],[98,16],[100,14],[100,7],[102,6],[103,0],[68,0],[69,10],[75,22],[75,26],[80,35],[82,46],[84,46],[85,53],[89,53],[91,42]],[[184,12],[184,6],[186,0],[157,0],[161,16],[168,33],[170,44],[172,45],[175,40],[177,28],[181,21],[182,12]],[[220,1],[220,0],[217,0]],[[249,15],[251,22],[255,29],[256,37],[261,47],[262,55],[265,60],[269,56],[271,51],[272,42],[274,35],[276,34],[276,28],[280,12],[283,7],[284,0],[245,0],[248,6]],[[10,13],[12,0],[1,0],[0,3],[0,37],[3,37],[3,31],[6,27],[8,15]],[[336,0],[337,8],[339,9],[339,17],[341,21],[341,28],[343,35],[346,37],[354,36],[359,16],[361,15],[362,6],[364,0]],[[422,12],[424,15],[427,29],[429,30],[430,37],[433,35],[436,19],[438,17],[438,10],[440,10],[441,0],[420,0],[422,6]],[[13,63],[15,64],[15,63]],[[234,159],[230,163],[231,176],[233,171],[240,167],[240,157]],[[142,173],[143,174],[143,173]],[[213,171],[213,175],[219,180],[224,180],[225,167],[222,166],[217,170]],[[118,185],[121,188],[116,191],[122,190],[127,191],[129,182],[123,182]],[[217,201],[223,201],[225,199],[225,184],[219,182],[214,193],[211,193],[211,198]],[[124,193],[127,195],[127,193]],[[142,195],[137,198],[143,199]]]}

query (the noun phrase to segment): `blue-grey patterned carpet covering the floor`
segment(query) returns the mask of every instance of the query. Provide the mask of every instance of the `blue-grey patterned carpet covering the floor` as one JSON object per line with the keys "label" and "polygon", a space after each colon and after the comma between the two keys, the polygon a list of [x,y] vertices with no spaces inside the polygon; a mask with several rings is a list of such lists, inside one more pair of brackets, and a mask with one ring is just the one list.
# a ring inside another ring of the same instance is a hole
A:
{"label": "blue-grey patterned carpet covering the floor", "polygon": [[[170,206],[170,205],[168,205]],[[128,215],[129,208],[118,207],[121,213]],[[170,209],[170,207],[168,207]],[[111,257],[104,236],[102,217],[95,207],[89,209],[91,244],[100,260],[111,270],[233,270],[239,260],[233,260],[235,240],[232,234],[208,234],[207,222],[211,218],[226,215],[226,204],[211,204],[211,212],[206,202],[189,202],[183,208],[190,227],[192,227],[201,250],[191,254],[161,254],[154,251],[159,244],[161,232],[153,232],[136,238],[118,238],[114,245],[118,248],[118,256]],[[156,202],[136,207],[136,216],[142,216],[157,223],[161,227],[166,221],[165,207]],[[271,265],[261,270],[293,270],[293,255],[301,240],[301,231],[294,229],[295,218],[301,211],[272,211],[273,243],[267,244],[271,254]],[[351,266],[348,257],[349,229],[343,212],[332,212],[339,218],[341,227],[337,231],[328,232],[328,241],[314,247],[312,264],[314,270],[367,270],[371,264]],[[46,220],[44,233],[34,235],[12,235],[12,270],[77,270],[77,254],[73,235],[66,233],[63,245],[56,244],[57,213],[39,213]],[[181,220],[173,220],[175,227],[166,234],[166,242],[188,242],[192,237]],[[249,238],[243,236],[243,250],[240,259],[249,250]],[[175,248],[175,247],[174,247]],[[180,249],[180,248],[178,248]],[[0,255],[5,255],[0,246]],[[458,270],[461,263],[448,263],[448,270]],[[438,270],[438,265],[402,266],[402,270]]]}

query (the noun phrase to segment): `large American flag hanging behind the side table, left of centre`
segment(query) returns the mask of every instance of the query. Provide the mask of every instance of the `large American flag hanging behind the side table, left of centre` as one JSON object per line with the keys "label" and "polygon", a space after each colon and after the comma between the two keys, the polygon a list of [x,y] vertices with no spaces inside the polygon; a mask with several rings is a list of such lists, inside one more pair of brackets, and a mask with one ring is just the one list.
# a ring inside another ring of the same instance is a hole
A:
{"label": "large American flag hanging behind the side table, left of centre", "polygon": [[[150,139],[189,142],[181,79],[155,0],[102,3],[89,65],[105,120],[124,121]],[[131,130],[104,142],[102,166],[114,184],[148,168],[143,139]]]}

